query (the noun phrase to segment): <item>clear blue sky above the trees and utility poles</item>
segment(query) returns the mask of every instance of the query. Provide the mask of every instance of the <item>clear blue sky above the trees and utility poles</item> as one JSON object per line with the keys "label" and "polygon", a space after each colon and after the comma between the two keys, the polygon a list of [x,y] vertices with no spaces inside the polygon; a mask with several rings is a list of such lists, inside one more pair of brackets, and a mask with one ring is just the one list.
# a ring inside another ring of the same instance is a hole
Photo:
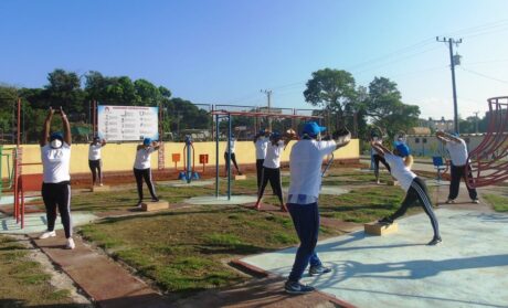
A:
{"label": "clear blue sky above the trees and utility poles", "polygon": [[357,85],[399,85],[422,117],[453,116],[447,45],[457,52],[458,109],[508,95],[508,1],[0,1],[0,83],[41,87],[47,73],[147,78],[203,104],[310,107],[305,83],[330,67]]}

